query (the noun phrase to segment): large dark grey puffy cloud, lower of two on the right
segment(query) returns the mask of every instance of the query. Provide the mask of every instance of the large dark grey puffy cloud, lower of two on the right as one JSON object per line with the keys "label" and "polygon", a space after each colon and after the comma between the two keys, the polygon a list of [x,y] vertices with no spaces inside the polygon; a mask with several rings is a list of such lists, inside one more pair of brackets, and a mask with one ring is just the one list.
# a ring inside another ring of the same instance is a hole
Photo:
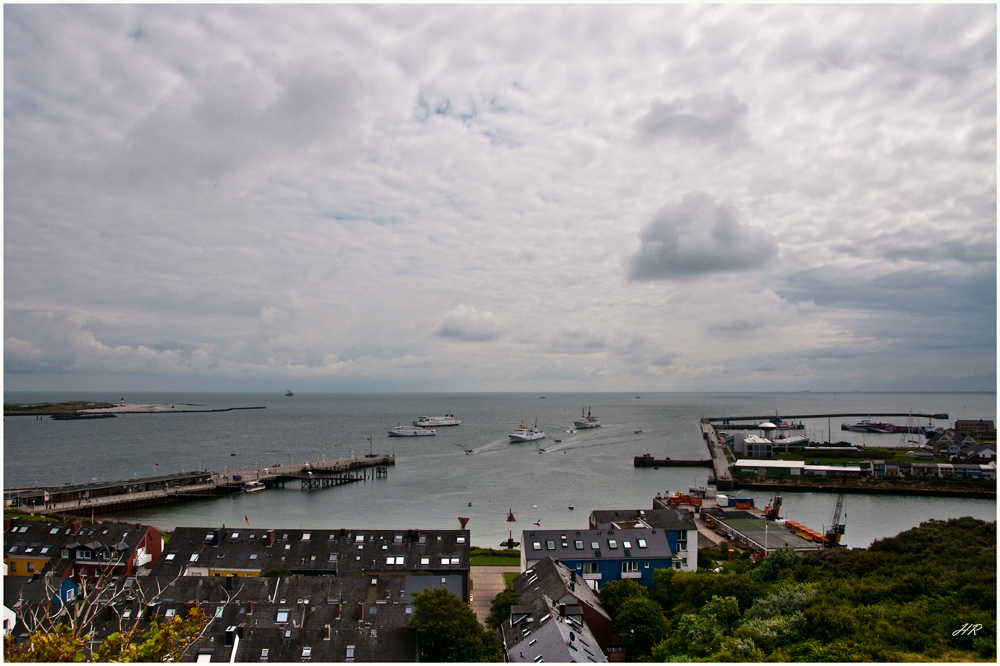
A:
{"label": "large dark grey puffy cloud, lower of two on the right", "polygon": [[640,239],[628,260],[634,281],[753,270],[778,253],[773,236],[741,224],[735,208],[700,192],[661,208]]}

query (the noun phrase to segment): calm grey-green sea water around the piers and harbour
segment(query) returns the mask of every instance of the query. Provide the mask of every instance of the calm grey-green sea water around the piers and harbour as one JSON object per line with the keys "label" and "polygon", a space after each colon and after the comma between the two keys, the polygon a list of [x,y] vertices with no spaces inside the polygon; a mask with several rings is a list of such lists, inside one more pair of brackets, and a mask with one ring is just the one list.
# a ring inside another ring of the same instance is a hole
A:
{"label": "calm grey-green sea water around the piers and harbour", "polygon": [[[119,394],[12,393],[5,402],[102,400]],[[633,467],[636,455],[703,458],[699,419],[803,413],[936,413],[955,419],[996,420],[996,395],[930,393],[774,394],[131,394],[129,403],[182,408],[263,406],[208,414],[130,414],[92,421],[4,421],[4,486],[111,481],[160,473],[266,467],[274,463],[368,453],[396,455],[389,478],[322,491],[296,484],[250,495],[192,502],[172,508],[122,514],[163,529],[178,525],[240,525],[310,529],[458,527],[470,518],[476,545],[494,546],[540,521],[544,528],[586,527],[592,509],[649,508],[658,493],[704,484],[707,468]],[[193,406],[193,407],[189,407]],[[570,432],[581,407],[602,427]],[[420,414],[452,411],[462,420],[439,428],[436,437],[390,438],[386,431]],[[546,432],[540,442],[508,443],[507,433],[524,421]],[[843,419],[849,421],[851,419]],[[905,423],[906,419],[891,419]],[[921,425],[926,419],[919,420]],[[840,431],[840,421],[806,421],[806,431],[825,440],[856,444],[903,444],[899,435]],[[640,433],[636,433],[640,430]],[[557,443],[555,440],[562,440]],[[546,453],[539,454],[538,447]],[[472,449],[468,455],[465,449]],[[765,493],[745,493],[766,503]],[[788,493],[787,517],[821,528],[830,521],[835,496]],[[471,503],[471,506],[470,506]],[[573,510],[569,506],[574,506]],[[512,510],[516,523],[507,523]],[[931,518],[971,515],[996,520],[996,502],[939,498],[848,495],[849,546],[915,527]]]}

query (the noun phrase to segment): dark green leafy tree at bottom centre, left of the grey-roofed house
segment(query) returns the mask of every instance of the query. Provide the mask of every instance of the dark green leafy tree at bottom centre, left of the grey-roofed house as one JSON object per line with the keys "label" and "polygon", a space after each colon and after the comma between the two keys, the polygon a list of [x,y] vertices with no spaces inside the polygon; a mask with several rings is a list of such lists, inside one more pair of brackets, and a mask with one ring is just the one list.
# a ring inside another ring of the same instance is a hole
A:
{"label": "dark green leafy tree at bottom centre, left of the grey-roofed house", "polygon": [[417,630],[421,661],[500,661],[496,635],[479,623],[468,604],[438,587],[413,595],[410,627]]}

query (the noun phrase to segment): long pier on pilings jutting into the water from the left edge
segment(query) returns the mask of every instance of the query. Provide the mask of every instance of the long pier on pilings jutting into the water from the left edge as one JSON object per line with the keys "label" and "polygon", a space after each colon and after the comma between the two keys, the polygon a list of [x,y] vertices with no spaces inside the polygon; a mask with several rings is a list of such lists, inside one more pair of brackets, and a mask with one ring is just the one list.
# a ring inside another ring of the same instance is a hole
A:
{"label": "long pier on pilings jutting into the water from the left edge", "polygon": [[[392,455],[365,455],[220,472],[188,472],[125,481],[4,489],[4,507],[36,514],[107,514],[242,492],[248,481],[265,487],[298,481],[303,490],[384,479]],[[371,470],[371,471],[369,471]]]}

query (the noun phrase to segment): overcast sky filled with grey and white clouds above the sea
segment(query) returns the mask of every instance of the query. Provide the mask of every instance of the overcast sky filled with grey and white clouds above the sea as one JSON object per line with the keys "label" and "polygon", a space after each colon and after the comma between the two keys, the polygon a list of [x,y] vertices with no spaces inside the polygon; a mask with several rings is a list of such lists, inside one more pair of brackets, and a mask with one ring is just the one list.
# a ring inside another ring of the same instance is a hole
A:
{"label": "overcast sky filled with grey and white clouds above the sea", "polygon": [[992,5],[5,5],[7,390],[996,390]]}

